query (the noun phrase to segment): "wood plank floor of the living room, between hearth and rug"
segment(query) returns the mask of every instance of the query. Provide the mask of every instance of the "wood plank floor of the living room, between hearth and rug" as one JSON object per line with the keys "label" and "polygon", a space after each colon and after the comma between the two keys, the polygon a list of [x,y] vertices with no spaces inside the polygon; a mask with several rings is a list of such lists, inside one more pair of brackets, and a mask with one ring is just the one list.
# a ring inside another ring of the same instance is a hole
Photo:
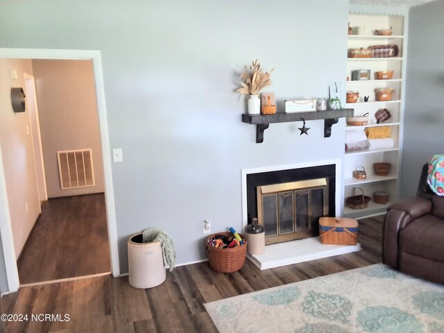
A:
{"label": "wood plank floor of the living room, between hearth and rug", "polygon": [[3,314],[69,314],[65,322],[7,323],[5,332],[217,332],[203,303],[381,262],[382,217],[360,221],[362,250],[259,271],[247,259],[222,274],[208,262],[177,267],[153,289],[104,276],[24,287],[3,296]]}

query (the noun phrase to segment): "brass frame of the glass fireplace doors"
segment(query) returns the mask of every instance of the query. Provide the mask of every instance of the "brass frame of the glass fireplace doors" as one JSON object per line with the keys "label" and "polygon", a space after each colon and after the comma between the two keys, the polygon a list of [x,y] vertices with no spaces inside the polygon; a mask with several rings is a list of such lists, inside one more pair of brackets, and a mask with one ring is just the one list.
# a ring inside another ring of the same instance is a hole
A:
{"label": "brass frame of the glass fireplace doors", "polygon": [[[264,216],[263,216],[263,196],[267,195],[273,195],[277,194],[278,196],[280,194],[285,193],[294,193],[294,191],[298,191],[298,193],[303,193],[303,190],[307,191],[307,194],[309,194],[309,191],[311,189],[323,189],[323,216],[326,216],[328,214],[328,178],[316,178],[311,180],[300,180],[296,182],[284,182],[280,184],[272,184],[272,185],[262,185],[257,186],[257,220],[258,223],[261,225],[264,225]],[[310,196],[308,195],[308,198]],[[277,197],[278,198],[278,197]],[[308,207],[308,216],[311,216],[311,204],[309,201],[309,207]],[[279,230],[280,228],[280,219],[279,219],[279,209],[278,205],[276,207],[276,221],[277,225],[276,228]],[[315,237],[318,235],[318,229],[317,228],[309,228],[308,230],[296,230],[297,222],[296,221],[296,198],[293,196],[293,232],[287,232],[287,233],[279,233],[277,235],[273,236],[266,236],[265,237],[265,244],[274,244],[279,243],[282,241],[291,241],[295,239],[302,239],[307,237]],[[311,224],[311,223],[310,223]],[[310,226],[311,227],[311,226]]]}

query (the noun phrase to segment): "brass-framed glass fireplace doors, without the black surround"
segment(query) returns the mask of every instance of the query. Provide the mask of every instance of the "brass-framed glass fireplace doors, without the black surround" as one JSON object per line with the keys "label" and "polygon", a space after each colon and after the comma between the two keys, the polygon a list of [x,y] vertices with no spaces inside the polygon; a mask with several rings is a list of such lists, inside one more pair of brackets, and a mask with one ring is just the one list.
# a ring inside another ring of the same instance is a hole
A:
{"label": "brass-framed glass fireplace doors, without the black surround", "polygon": [[266,244],[317,236],[319,218],[328,214],[327,186],[327,178],[258,186]]}

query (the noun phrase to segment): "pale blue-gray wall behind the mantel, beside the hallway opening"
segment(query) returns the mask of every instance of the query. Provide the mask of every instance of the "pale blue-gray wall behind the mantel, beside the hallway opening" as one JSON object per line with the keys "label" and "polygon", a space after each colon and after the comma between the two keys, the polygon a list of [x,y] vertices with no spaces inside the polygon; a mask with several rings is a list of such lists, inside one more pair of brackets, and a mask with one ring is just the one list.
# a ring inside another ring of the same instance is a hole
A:
{"label": "pale blue-gray wall behind the mantel, beside the hallway opening", "polygon": [[[344,119],[272,124],[263,144],[241,123],[239,71],[275,68],[266,91],[284,99],[345,86],[346,0],[72,1],[0,5],[0,47],[101,51],[119,256],[147,227],[176,241],[178,264],[204,259],[202,221],[241,229],[241,169],[343,159]],[[345,96],[345,92],[343,92]],[[1,207],[0,207],[1,209]]]}

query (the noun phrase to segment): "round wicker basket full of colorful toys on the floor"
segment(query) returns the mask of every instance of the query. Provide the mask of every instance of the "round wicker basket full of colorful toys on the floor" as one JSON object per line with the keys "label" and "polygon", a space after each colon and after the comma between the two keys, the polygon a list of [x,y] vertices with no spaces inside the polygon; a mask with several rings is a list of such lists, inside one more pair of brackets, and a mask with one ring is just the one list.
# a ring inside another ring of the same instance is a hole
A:
{"label": "round wicker basket full of colorful toys on the floor", "polygon": [[210,267],[214,271],[233,273],[244,266],[247,241],[243,234],[238,234],[235,231],[210,234],[205,240],[205,245],[207,246]]}

